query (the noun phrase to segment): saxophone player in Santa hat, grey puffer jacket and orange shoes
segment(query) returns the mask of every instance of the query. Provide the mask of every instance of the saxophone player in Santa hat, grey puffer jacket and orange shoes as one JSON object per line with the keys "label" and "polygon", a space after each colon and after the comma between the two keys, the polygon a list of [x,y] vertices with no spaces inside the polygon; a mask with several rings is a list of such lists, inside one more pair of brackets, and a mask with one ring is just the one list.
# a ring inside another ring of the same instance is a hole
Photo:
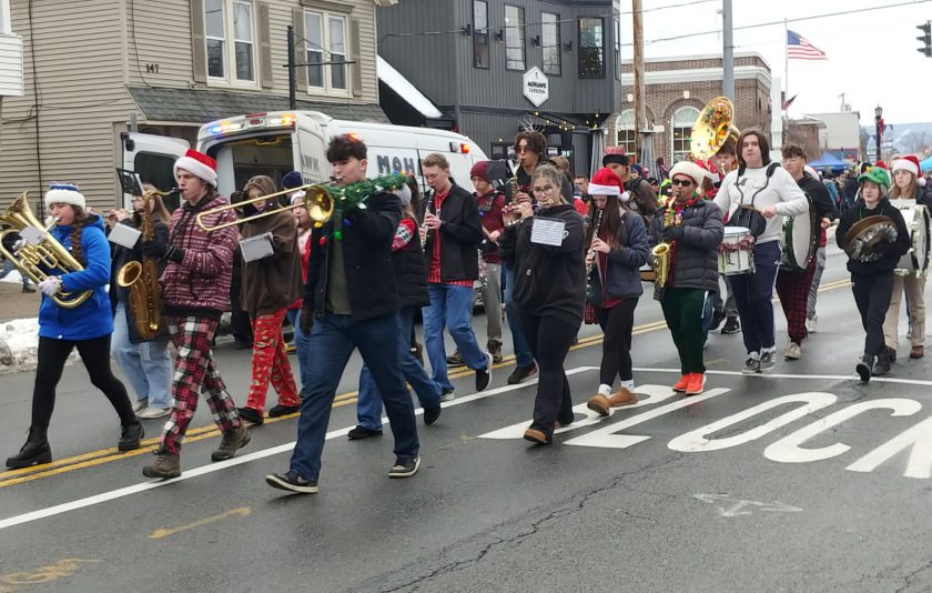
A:
{"label": "saxophone player in Santa hat, grey puffer jacket and orange shoes", "polygon": [[655,242],[669,244],[667,281],[655,284],[663,318],[680,359],[673,391],[697,395],[706,384],[702,360],[702,315],[706,300],[718,290],[718,254],[723,225],[721,210],[700,193],[706,171],[690,161],[670,170],[673,195],[654,220]]}

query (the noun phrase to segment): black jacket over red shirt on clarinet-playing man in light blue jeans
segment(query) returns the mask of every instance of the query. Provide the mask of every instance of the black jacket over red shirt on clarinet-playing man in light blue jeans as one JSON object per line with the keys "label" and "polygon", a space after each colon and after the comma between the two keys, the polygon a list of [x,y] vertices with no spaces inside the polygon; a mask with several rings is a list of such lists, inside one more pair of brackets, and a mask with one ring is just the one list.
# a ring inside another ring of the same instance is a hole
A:
{"label": "black jacket over red shirt on clarinet-playing man in light blue jeans", "polygon": [[[433,194],[427,199],[427,211],[436,214]],[[427,233],[427,242],[424,244],[428,267],[436,233],[439,232],[440,281],[476,280],[479,278],[477,250],[485,235],[479,207],[473,194],[459,185],[453,185],[440,207],[439,218],[443,224],[437,231]]]}

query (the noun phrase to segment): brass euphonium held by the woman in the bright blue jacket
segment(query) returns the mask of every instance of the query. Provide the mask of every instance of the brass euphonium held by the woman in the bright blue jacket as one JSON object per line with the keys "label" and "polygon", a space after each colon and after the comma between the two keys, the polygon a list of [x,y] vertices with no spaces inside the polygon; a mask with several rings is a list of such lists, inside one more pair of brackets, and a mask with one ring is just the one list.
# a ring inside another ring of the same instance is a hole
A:
{"label": "brass euphonium held by the woman in the bright blue jacket", "polygon": [[[9,229],[0,232],[0,253],[3,253],[3,257],[16,265],[21,274],[37,284],[53,275],[45,270],[61,270],[62,274],[84,270],[84,267],[49,233],[51,225],[43,227],[36,220],[32,210],[29,208],[28,194],[29,192],[22,192],[19,198],[13,200],[10,208],[0,215],[0,222],[9,227]],[[16,253],[3,247],[3,238],[7,234],[22,233],[29,227],[38,229],[42,233],[42,240],[38,244],[26,243]],[[83,292],[59,291],[51,299],[62,309],[75,309],[90,299],[91,294],[93,294],[93,291],[90,290]]]}

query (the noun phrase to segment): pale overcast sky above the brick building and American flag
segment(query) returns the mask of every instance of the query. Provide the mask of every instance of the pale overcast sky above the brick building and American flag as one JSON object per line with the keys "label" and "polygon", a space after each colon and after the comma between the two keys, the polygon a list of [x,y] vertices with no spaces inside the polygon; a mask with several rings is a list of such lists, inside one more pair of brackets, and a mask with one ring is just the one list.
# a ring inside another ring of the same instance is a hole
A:
{"label": "pale overcast sky above the brick building and American flag", "polygon": [[[619,0],[622,40],[631,39],[631,3]],[[721,31],[721,0],[641,0],[645,59],[722,51],[719,33],[670,41],[654,41],[703,31]],[[682,4],[657,10],[660,7]],[[735,28],[780,21],[779,24],[735,31],[735,52],[757,52],[768,62],[771,77],[784,77],[783,19],[882,8],[788,23],[828,54],[827,61],[790,60],[789,93],[797,94],[790,117],[839,111],[841,93],[863,125],[873,124],[874,108],[883,108],[887,123],[932,122],[932,58],[919,53],[916,26],[932,19],[932,1],[914,0],[732,0]],[[632,48],[622,48],[630,59]],[[895,82],[894,82],[895,81]]]}

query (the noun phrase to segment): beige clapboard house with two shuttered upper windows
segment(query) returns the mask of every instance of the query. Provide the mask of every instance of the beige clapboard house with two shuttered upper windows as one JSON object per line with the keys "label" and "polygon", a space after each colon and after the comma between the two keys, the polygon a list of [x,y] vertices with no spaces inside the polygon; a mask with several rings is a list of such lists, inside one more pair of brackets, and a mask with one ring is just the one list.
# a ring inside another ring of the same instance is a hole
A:
{"label": "beige clapboard house with two shuttered upper windows", "polygon": [[[67,0],[12,7],[24,96],[0,128],[0,195],[78,183],[119,203],[121,133],[194,143],[227,115],[288,109],[286,29],[296,31],[297,108],[387,122],[378,107],[374,0]],[[168,188],[163,188],[168,189]]]}

